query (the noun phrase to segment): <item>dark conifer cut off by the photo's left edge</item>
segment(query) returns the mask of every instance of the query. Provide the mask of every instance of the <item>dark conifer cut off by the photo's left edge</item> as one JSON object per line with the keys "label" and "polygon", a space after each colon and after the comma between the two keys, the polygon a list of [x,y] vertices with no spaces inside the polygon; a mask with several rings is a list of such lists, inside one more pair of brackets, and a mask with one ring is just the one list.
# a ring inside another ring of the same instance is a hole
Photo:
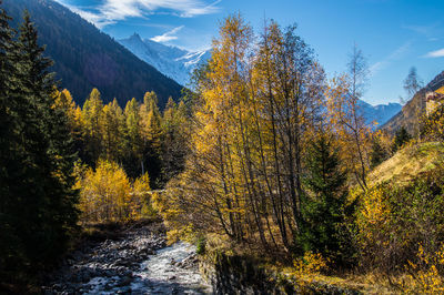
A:
{"label": "dark conifer cut off by the photo's left edge", "polygon": [[[1,0],[0,0],[1,4]],[[20,144],[20,116],[11,92],[16,80],[16,68],[11,60],[13,31],[10,17],[0,8],[0,277],[11,275],[12,267],[21,262],[22,244],[17,231],[17,210],[24,157]]]}

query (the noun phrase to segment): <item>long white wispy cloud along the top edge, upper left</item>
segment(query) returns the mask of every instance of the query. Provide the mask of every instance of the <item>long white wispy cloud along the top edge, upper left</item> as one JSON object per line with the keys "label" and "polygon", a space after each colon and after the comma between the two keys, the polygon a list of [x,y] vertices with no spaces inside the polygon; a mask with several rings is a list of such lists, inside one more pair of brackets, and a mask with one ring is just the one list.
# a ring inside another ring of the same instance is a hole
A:
{"label": "long white wispy cloud along the top edge, upper left", "polygon": [[181,18],[210,14],[219,11],[216,6],[221,0],[210,4],[204,0],[102,0],[97,6],[82,9],[67,4],[65,0],[57,0],[79,13],[82,18],[94,23],[99,28],[115,23],[132,17],[147,17],[153,13],[170,13]]}

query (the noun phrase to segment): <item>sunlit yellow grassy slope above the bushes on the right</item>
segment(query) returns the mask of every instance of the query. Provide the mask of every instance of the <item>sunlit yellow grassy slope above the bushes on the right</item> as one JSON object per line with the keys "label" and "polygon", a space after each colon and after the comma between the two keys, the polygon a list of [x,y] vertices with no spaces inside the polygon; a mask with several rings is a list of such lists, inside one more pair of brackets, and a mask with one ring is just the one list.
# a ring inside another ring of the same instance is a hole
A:
{"label": "sunlit yellow grassy slope above the bushes on the right", "polygon": [[444,164],[444,144],[415,143],[400,150],[369,175],[372,185],[384,181],[406,184],[421,174]]}

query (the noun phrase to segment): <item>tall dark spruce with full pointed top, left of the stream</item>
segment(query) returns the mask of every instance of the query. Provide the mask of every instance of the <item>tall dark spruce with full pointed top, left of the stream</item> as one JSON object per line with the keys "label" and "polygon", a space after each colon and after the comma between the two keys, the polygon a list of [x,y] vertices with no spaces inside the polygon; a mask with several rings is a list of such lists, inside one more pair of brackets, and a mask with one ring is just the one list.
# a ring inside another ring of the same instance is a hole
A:
{"label": "tall dark spruce with full pointed top, left of the stream", "polygon": [[1,213],[9,216],[7,226],[14,238],[14,253],[6,256],[10,274],[51,262],[65,250],[77,224],[75,154],[68,118],[54,108],[52,61],[43,52],[24,12],[18,40],[9,50],[14,71],[7,100],[13,102],[9,112],[14,114],[17,128],[11,142],[14,153],[6,163],[8,177],[2,177],[8,187],[2,200],[8,203]]}

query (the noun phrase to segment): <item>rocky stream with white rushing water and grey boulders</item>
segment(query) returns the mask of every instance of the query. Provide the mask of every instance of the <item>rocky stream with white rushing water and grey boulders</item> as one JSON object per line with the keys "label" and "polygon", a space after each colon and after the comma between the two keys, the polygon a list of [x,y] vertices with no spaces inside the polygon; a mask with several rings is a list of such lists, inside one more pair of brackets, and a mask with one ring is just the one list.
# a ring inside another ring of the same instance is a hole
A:
{"label": "rocky stream with white rushing water and grey boulders", "polygon": [[84,243],[44,277],[43,294],[211,294],[195,247],[167,245],[153,225],[134,225],[112,238]]}

